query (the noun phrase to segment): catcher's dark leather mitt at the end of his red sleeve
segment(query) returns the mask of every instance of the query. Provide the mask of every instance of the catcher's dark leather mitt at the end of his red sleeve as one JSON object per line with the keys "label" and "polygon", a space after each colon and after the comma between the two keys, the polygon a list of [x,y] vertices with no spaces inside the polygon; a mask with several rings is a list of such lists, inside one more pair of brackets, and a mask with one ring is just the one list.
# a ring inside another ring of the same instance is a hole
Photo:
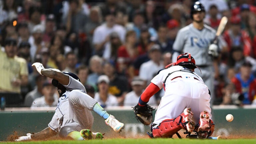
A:
{"label": "catcher's dark leather mitt at the end of his red sleeve", "polygon": [[152,111],[154,110],[154,108],[152,108],[148,104],[145,106],[139,106],[137,104],[135,107],[132,107],[132,108],[135,114],[135,118],[138,121],[140,121],[144,125],[150,125],[150,123],[152,122],[152,117],[153,117]]}

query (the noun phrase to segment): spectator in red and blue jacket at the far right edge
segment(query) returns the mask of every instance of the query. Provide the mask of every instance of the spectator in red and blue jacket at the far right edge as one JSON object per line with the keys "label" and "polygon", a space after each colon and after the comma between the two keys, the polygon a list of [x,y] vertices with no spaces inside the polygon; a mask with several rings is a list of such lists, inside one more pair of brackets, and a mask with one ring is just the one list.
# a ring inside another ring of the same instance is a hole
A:
{"label": "spectator in red and blue jacket at the far right edge", "polygon": [[251,104],[256,91],[256,79],[251,72],[251,63],[244,61],[240,67],[240,72],[232,78],[236,92],[244,96],[243,104]]}

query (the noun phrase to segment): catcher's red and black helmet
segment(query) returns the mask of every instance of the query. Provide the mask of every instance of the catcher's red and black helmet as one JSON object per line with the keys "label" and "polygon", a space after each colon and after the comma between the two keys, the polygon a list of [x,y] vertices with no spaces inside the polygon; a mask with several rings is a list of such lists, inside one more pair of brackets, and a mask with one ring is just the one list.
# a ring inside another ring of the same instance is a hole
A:
{"label": "catcher's red and black helmet", "polygon": [[179,55],[177,57],[176,63],[171,63],[171,64],[167,65],[165,68],[168,68],[168,67],[171,67],[171,66],[175,66],[175,65],[183,66],[183,67],[186,67],[186,68],[189,68],[189,69],[197,68],[196,61],[191,56],[190,53],[185,53],[185,54]]}

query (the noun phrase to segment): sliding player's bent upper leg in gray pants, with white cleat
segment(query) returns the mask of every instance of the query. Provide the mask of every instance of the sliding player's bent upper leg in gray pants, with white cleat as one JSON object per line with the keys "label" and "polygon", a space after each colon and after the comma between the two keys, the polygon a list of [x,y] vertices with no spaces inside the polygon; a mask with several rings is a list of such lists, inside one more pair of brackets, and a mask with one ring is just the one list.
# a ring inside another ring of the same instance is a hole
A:
{"label": "sliding player's bent upper leg in gray pants, with white cleat", "polygon": [[[96,112],[98,115],[105,119],[105,123],[109,125],[115,132],[119,132],[124,124],[119,122],[113,115],[109,115],[95,99],[90,97],[88,94],[83,93],[79,90],[72,90],[69,93],[69,105],[71,106],[70,115],[74,113],[74,109],[83,107],[87,108],[90,111]],[[81,113],[78,113],[79,115]]]}

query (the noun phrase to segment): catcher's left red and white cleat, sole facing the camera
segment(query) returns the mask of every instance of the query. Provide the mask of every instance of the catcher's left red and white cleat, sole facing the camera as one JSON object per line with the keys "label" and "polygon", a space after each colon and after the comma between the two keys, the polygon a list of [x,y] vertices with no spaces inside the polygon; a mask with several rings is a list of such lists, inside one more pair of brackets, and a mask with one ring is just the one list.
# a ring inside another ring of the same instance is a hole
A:
{"label": "catcher's left red and white cleat, sole facing the camera", "polygon": [[185,124],[186,129],[188,132],[193,132],[195,129],[195,122],[192,120],[193,112],[191,111],[191,108],[185,108],[182,115],[182,123]]}

